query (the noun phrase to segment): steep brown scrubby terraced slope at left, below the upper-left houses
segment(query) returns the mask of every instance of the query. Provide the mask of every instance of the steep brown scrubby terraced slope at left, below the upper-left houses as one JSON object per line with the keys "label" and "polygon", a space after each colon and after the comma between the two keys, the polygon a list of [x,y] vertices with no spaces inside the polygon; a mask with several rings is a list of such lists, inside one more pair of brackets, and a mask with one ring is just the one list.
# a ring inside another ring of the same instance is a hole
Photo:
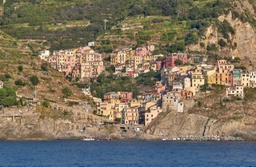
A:
{"label": "steep brown scrubby terraced slope at left, below the upper-left houses", "polygon": [[[42,70],[42,65],[46,66],[46,70]],[[18,70],[18,66],[22,66],[22,71]],[[5,75],[10,75],[10,78]],[[65,88],[72,91],[74,98],[90,100],[58,70],[33,56],[29,47],[0,31],[0,80],[4,80],[6,86],[15,86],[15,82],[20,80],[22,84],[16,85],[18,95],[34,97],[34,86],[30,82],[33,75],[39,79],[37,92],[41,100],[63,102],[62,89]]]}

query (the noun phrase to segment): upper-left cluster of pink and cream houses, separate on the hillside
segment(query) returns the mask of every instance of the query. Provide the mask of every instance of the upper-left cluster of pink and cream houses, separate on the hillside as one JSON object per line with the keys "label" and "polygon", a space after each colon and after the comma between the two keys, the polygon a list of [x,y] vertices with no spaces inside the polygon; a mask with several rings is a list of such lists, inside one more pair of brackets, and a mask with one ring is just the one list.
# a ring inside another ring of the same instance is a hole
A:
{"label": "upper-left cluster of pink and cream houses, separate on the hillside", "polygon": [[38,57],[73,78],[97,78],[105,70],[102,55],[95,53],[90,46],[55,50],[52,54],[49,50],[43,50]]}

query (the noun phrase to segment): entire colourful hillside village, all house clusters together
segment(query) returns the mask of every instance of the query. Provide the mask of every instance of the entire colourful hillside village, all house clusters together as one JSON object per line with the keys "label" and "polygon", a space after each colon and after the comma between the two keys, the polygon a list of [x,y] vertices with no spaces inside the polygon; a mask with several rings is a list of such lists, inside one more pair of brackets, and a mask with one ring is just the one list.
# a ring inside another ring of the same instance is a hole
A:
{"label": "entire colourful hillside village, all house clusters together", "polygon": [[[149,125],[158,113],[170,109],[184,112],[186,101],[201,93],[204,85],[225,85],[223,96],[240,101],[244,97],[244,87],[256,87],[256,71],[236,69],[226,60],[206,64],[207,58],[180,52],[154,55],[153,51],[154,46],[147,46],[136,50],[114,50],[109,54],[108,64],[115,67],[114,75],[136,78],[154,70],[161,71],[161,81],[136,99],[133,93],[122,91],[105,93],[103,99],[92,97],[97,104],[98,115],[127,125]],[[102,55],[90,46],[53,53],[45,50],[39,58],[73,78],[97,78],[106,69]],[[176,62],[182,66],[177,66]],[[190,62],[197,63],[190,66]],[[83,89],[83,92],[91,96],[90,88]]]}

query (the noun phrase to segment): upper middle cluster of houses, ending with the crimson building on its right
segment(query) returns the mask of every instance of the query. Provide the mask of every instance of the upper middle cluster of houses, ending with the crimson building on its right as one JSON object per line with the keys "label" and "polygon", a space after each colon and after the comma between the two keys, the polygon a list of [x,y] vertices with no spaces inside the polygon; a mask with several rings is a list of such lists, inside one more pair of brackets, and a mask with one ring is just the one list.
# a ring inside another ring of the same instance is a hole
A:
{"label": "upper middle cluster of houses, ending with the crimson building on its right", "polygon": [[110,65],[115,67],[115,73],[122,77],[138,77],[139,74],[145,74],[150,70],[161,70],[163,66],[166,68],[174,67],[174,62],[179,59],[182,63],[189,61],[187,54],[174,53],[169,54],[165,61],[162,54],[154,55],[154,46],[138,47],[136,50],[130,48],[122,50],[114,50],[110,54]]}

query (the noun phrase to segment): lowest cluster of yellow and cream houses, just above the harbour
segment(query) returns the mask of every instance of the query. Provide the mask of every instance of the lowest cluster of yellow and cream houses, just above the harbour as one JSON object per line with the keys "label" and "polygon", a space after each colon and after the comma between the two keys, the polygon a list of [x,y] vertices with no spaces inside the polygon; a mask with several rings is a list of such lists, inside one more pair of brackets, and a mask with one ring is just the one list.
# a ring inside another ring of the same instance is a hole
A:
{"label": "lowest cluster of yellow and cream houses, just above the harbour", "polygon": [[97,113],[127,125],[149,125],[162,112],[158,95],[148,93],[134,99],[131,92],[105,93],[103,101],[98,101]]}

